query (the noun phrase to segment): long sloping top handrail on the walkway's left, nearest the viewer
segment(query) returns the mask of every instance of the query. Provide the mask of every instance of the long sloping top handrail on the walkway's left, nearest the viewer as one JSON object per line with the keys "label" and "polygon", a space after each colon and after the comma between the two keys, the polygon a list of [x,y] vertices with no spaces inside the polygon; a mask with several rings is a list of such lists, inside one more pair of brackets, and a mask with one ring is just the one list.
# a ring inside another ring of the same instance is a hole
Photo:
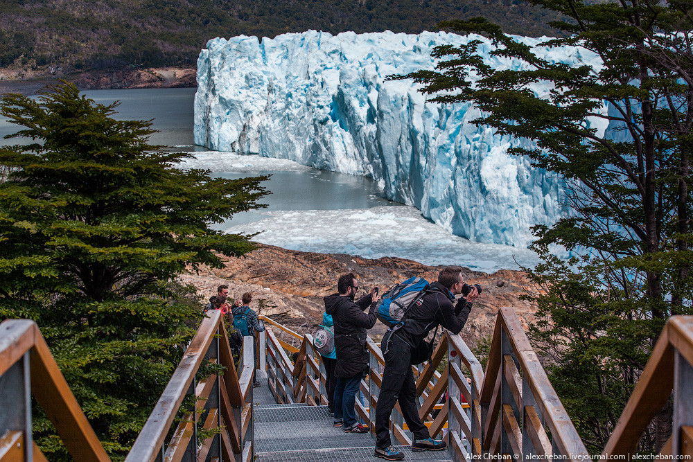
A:
{"label": "long sloping top handrail on the walkway's left, nearest the viewer", "polygon": [[173,376],[168,381],[164,393],[161,394],[161,398],[128,453],[126,462],[146,462],[155,459],[161,450],[161,445],[164,444],[164,438],[173,423],[175,414],[195,378],[195,373],[200,368],[204,355],[216,335],[217,328],[222,326],[220,330],[224,330],[221,321],[222,314],[219,310],[209,310],[207,317],[202,319],[198,332],[195,333],[180,364],[173,371]]}

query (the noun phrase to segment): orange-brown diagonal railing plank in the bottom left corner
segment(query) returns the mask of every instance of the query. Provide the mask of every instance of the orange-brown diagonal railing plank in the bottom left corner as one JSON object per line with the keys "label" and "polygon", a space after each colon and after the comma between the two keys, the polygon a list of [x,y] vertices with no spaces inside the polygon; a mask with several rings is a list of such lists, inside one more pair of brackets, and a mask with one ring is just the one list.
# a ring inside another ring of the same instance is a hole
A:
{"label": "orange-brown diagonal railing plank in the bottom left corner", "polygon": [[29,359],[31,393],[58,430],[62,443],[73,458],[80,461],[109,461],[35,324],[33,332],[34,346],[30,349]]}

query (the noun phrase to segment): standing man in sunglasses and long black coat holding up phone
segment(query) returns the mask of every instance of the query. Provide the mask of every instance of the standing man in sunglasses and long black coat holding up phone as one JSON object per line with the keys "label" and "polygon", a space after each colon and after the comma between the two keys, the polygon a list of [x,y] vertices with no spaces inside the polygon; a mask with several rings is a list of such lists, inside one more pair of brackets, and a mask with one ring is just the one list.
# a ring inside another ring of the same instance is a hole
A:
{"label": "standing man in sunglasses and long black coat holding up phone", "polygon": [[[344,432],[366,433],[368,427],[358,423],[354,403],[361,377],[368,366],[366,330],[376,323],[378,291],[374,288],[356,303],[358,281],[353,273],[344,274],[337,282],[339,293],[325,297],[325,312],[335,324],[337,366],[335,376],[335,427],[344,425]],[[368,314],[364,310],[370,305]]]}

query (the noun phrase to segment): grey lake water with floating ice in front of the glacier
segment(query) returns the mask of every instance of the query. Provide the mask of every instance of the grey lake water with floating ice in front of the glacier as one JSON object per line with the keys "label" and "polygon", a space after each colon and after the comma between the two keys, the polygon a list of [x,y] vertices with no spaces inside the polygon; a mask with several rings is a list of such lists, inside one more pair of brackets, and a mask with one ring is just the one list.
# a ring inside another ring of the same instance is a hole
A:
{"label": "grey lake water with floating ice in front of the glacier", "polygon": [[[12,91],[32,89],[21,87]],[[462,265],[483,272],[534,266],[527,249],[480,244],[453,236],[414,207],[384,199],[383,191],[367,178],[326,172],[283,159],[209,151],[193,144],[195,89],[91,90],[83,92],[97,103],[120,100],[114,117],[152,120],[159,130],[150,142],[177,152],[193,152],[183,168],[207,168],[214,176],[238,178],[272,175],[265,186],[271,194],[267,208],[240,213],[215,225],[230,233],[255,233],[255,240],[293,250],[343,253],[379,258],[397,256],[427,265]],[[0,136],[17,127],[0,118]],[[10,140],[10,143],[17,141]],[[0,143],[8,141],[0,140]]]}

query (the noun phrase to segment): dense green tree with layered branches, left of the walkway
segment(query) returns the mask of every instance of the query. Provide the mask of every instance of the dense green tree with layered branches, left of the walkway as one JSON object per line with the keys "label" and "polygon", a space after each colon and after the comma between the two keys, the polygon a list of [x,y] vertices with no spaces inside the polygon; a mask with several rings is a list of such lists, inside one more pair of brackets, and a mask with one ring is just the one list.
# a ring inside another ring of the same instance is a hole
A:
{"label": "dense green tree with layered branches, left of the walkway", "polygon": [[[32,142],[0,148],[0,319],[35,320],[114,459],[139,429],[202,317],[176,276],[221,267],[250,236],[209,224],[257,208],[267,177],[211,179],[188,154],[149,145],[148,121],[116,121],[71,84],[37,100],[4,96],[0,114]],[[187,297],[187,298],[186,298]],[[45,418],[37,441],[65,457]]]}

